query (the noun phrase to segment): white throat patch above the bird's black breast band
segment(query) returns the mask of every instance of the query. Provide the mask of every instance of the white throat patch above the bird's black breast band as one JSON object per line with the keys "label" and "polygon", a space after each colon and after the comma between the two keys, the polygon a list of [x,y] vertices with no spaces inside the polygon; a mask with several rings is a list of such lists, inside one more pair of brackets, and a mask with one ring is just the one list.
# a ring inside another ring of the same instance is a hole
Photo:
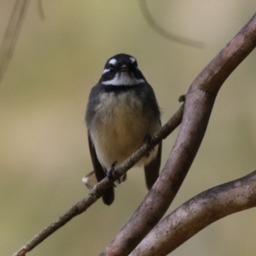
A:
{"label": "white throat patch above the bird's black breast band", "polygon": [[136,85],[144,83],[144,79],[137,79],[134,76],[129,75],[126,72],[116,73],[113,79],[104,81],[102,84],[105,85]]}

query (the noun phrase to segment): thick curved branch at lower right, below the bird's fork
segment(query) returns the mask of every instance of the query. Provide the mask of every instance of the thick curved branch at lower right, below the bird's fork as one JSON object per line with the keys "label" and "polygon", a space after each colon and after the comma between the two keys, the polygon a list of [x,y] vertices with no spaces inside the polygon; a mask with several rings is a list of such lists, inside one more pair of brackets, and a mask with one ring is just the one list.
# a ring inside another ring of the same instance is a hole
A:
{"label": "thick curved branch at lower right, below the bird's fork", "polygon": [[130,256],[165,256],[214,221],[251,207],[256,207],[256,171],[185,202],[157,224]]}

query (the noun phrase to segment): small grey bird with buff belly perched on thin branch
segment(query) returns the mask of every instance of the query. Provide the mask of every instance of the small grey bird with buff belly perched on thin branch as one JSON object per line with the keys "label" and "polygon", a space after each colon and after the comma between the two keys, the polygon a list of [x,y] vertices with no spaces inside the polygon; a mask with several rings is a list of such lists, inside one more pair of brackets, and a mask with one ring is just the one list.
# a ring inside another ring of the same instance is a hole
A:
{"label": "small grey bird with buff belly perched on thin branch", "polygon": [[[97,182],[118,167],[161,127],[160,107],[154,90],[137,66],[135,57],[113,55],[102,77],[90,90],[85,113],[90,158]],[[148,190],[159,177],[162,143],[145,154],[136,166],[144,167]],[[125,177],[124,177],[125,179]],[[102,200],[111,205],[114,186]]]}

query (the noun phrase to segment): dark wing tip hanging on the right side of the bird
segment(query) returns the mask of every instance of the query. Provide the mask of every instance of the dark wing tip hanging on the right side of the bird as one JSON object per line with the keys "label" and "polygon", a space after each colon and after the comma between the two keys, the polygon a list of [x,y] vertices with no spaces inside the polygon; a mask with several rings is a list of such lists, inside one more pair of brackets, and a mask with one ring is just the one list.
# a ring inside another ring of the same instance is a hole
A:
{"label": "dark wing tip hanging on the right side of the bird", "polygon": [[146,185],[148,190],[154,185],[155,181],[159,177],[160,164],[162,154],[162,142],[159,143],[158,152],[154,160],[152,160],[148,166],[144,166]]}

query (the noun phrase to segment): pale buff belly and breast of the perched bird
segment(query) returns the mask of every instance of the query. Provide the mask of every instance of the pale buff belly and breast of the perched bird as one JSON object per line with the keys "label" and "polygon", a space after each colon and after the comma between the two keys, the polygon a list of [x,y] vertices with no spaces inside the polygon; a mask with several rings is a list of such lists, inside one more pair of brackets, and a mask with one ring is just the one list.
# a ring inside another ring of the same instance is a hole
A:
{"label": "pale buff belly and breast of the perched bird", "polygon": [[[156,120],[143,113],[142,103],[129,94],[103,93],[96,106],[90,126],[90,137],[96,148],[98,160],[105,169],[117,161],[119,166],[143,144],[145,134],[160,129]],[[137,165],[147,165],[157,154],[158,146]]]}

